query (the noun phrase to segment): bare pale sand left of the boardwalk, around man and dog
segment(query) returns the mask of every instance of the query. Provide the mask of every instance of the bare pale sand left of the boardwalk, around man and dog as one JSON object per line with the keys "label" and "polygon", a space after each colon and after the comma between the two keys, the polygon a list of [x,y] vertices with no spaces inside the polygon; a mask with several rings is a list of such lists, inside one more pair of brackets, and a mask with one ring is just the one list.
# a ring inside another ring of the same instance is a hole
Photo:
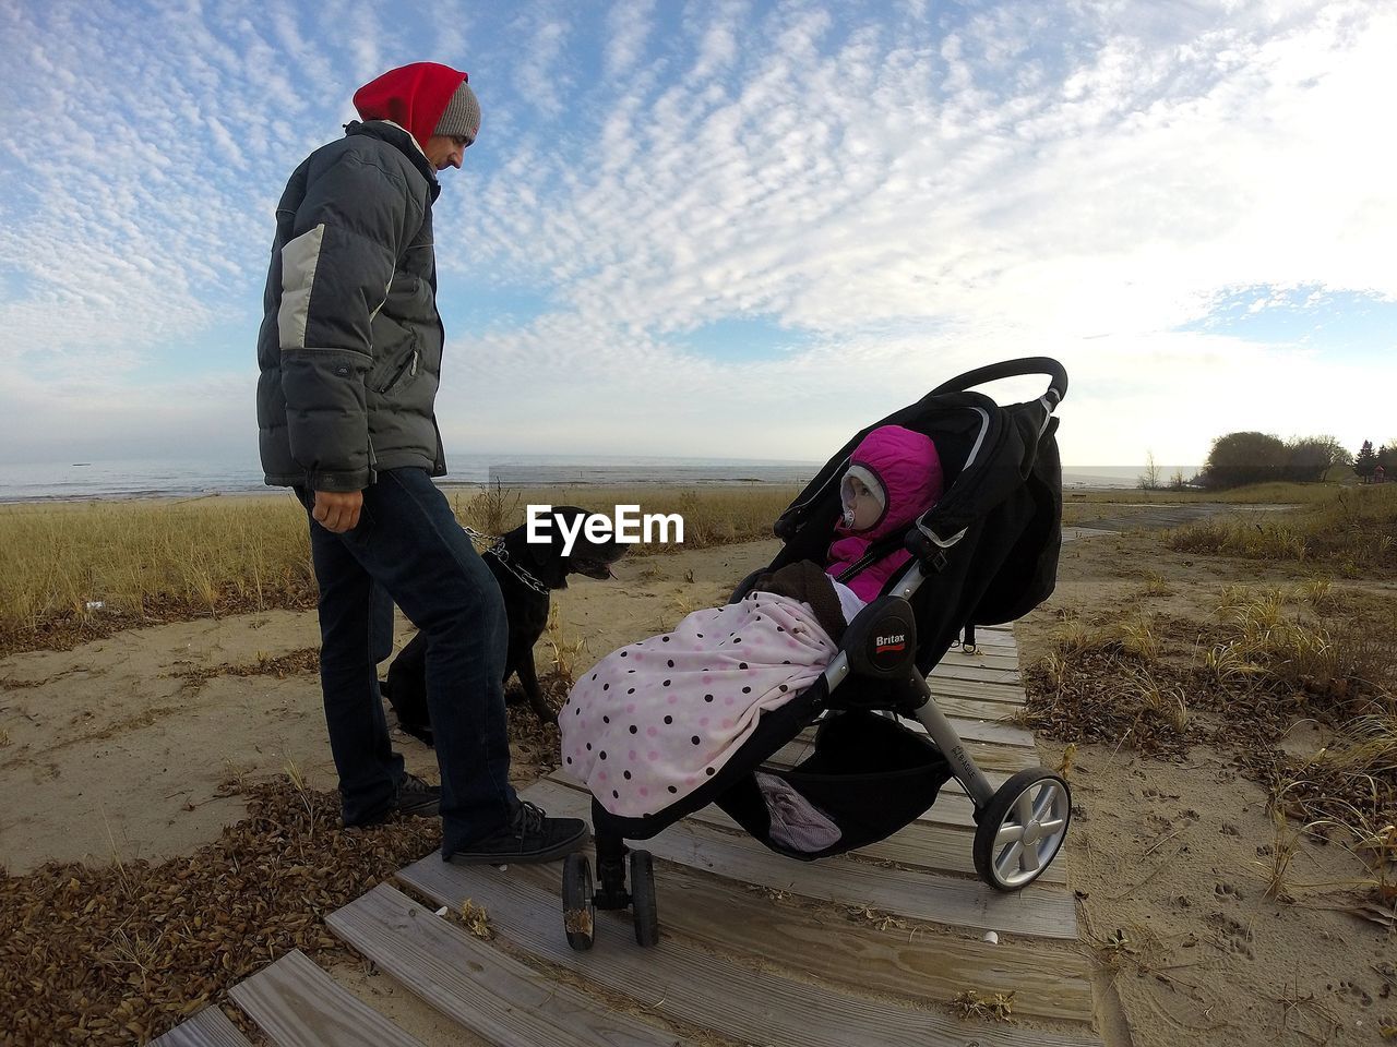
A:
{"label": "bare pale sand left of the boardwalk, around man and dog", "polygon": [[[577,662],[726,599],[775,542],[622,561],[617,578],[577,578],[557,595]],[[689,581],[692,578],[692,581]],[[411,635],[400,617],[398,646]],[[0,659],[0,856],[11,874],[45,860],[159,860],[215,839],[242,814],[219,786],[295,765],[334,787],[314,676],[254,673],[258,660],[319,644],[314,611],[265,611],[117,632],[74,651]],[[548,637],[541,669],[552,663]],[[588,660],[591,659],[591,660]],[[386,669],[387,666],[384,666]],[[583,666],[577,666],[580,670]],[[436,779],[430,750],[395,732],[408,769]],[[532,768],[515,768],[532,780]]]}

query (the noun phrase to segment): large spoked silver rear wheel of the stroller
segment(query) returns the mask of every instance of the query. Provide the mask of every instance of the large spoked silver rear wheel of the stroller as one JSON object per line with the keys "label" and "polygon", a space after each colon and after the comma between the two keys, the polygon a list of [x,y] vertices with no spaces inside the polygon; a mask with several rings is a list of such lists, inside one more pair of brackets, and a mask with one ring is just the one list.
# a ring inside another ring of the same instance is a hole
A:
{"label": "large spoked silver rear wheel of the stroller", "polygon": [[1067,783],[1045,768],[1020,771],[975,814],[975,871],[996,891],[1018,891],[1058,857],[1071,821]]}

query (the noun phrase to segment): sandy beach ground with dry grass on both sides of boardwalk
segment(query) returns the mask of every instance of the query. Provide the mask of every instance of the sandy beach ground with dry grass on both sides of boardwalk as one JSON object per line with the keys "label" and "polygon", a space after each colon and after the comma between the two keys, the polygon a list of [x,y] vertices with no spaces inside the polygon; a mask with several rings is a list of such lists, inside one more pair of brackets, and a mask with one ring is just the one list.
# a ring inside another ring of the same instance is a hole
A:
{"label": "sandy beach ground with dry grass on both sides of boardwalk", "polygon": [[[789,496],[629,498],[707,521],[690,532],[703,547],[626,557],[617,581],[557,596],[539,648],[555,699],[767,563],[775,543],[752,539]],[[1058,592],[1017,630],[1041,754],[1078,805],[1069,860],[1111,1047],[1397,1030],[1394,496],[1239,493],[1183,529],[1155,526],[1187,505],[1166,493],[1069,496],[1076,524],[1139,525],[1069,543]],[[609,511],[622,493],[455,497],[493,532],[531,500]],[[1249,508],[1277,501],[1308,508]],[[29,579],[27,603],[6,591],[7,616],[28,610],[0,653],[0,1043],[130,1043],[298,945],[425,1043],[450,1041],[320,923],[434,829],[334,824],[302,528],[289,498],[0,512]],[[198,529],[229,547],[212,600]],[[1289,537],[1246,544],[1268,529]],[[87,611],[96,582],[122,616]],[[515,716],[511,740],[521,782],[550,765],[553,729]],[[433,773],[430,751],[400,745]]]}

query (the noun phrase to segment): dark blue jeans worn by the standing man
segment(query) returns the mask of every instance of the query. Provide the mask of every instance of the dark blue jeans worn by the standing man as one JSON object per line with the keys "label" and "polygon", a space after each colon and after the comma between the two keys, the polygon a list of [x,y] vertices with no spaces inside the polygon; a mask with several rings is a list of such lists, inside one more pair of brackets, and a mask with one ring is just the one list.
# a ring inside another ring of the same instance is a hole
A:
{"label": "dark blue jeans worn by the standing man", "polygon": [[[296,497],[307,512],[314,493]],[[509,624],[500,588],[426,469],[388,469],[363,493],[342,535],[310,519],[320,584],[320,685],[344,819],[383,814],[402,779],[379,694],[393,653],[393,604],[427,637],[427,712],[441,771],[441,853],[506,825],[510,786],[504,716]]]}

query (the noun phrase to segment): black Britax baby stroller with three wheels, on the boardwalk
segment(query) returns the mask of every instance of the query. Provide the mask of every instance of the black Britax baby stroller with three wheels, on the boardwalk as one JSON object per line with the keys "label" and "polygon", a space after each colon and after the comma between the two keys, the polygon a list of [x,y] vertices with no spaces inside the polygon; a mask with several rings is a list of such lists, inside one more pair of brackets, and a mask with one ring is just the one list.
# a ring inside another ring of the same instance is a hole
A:
{"label": "black Britax baby stroller with three wheels, on the boardwalk", "polygon": [[[1000,408],[971,392],[989,381],[1032,374],[1049,377],[1046,392],[1035,401]],[[1018,891],[1048,868],[1071,818],[1067,783],[1045,768],[1031,768],[995,789],[937,709],[926,673],[957,641],[972,646],[977,625],[1013,621],[1052,593],[1062,544],[1053,410],[1066,392],[1066,371],[1048,357],[982,367],[862,430],[820,469],[777,521],[777,537],[785,544],[767,570],[823,561],[841,511],[840,477],[849,454],[879,426],[930,437],[946,491],[905,533],[873,544],[872,563],[897,547],[912,558],[849,623],[823,676],[763,713],[754,733],[714,778],[641,818],[613,815],[594,797],[597,888],[585,854],[571,854],[563,866],[564,928],[574,949],[591,948],[597,909],[627,906],[636,941],[658,942],[654,864],[648,852],[627,850],[624,840],[650,839],[710,803],[770,849],[814,860],[891,836],[930,808],[954,776],[974,803],[974,863],[986,884]],[[743,579],[731,602],[746,596],[759,574]],[[919,720],[926,733],[898,718]],[[791,769],[764,765],[809,726],[816,734],[807,758]],[[826,812],[838,825],[838,840],[817,852],[774,840],[757,772],[784,779]]]}

